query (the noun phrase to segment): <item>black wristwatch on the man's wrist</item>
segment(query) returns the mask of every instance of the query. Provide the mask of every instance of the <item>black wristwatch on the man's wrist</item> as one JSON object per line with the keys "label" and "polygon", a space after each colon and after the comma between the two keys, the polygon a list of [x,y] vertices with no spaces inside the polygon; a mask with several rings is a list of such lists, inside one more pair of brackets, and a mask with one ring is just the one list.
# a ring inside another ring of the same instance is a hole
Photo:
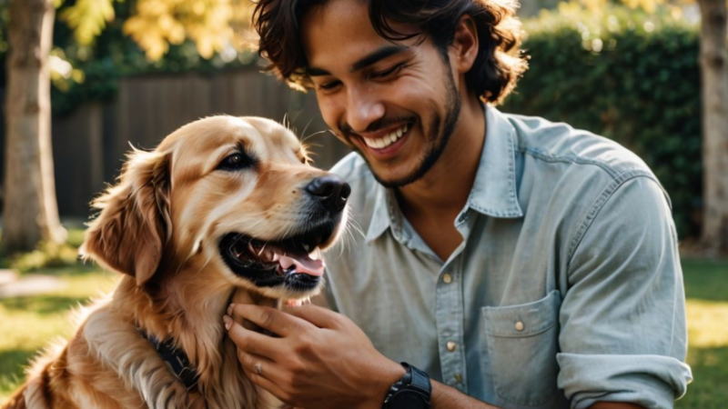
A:
{"label": "black wristwatch on the man's wrist", "polygon": [[406,362],[401,364],[407,372],[389,386],[382,409],[429,409],[432,392],[430,376]]}

